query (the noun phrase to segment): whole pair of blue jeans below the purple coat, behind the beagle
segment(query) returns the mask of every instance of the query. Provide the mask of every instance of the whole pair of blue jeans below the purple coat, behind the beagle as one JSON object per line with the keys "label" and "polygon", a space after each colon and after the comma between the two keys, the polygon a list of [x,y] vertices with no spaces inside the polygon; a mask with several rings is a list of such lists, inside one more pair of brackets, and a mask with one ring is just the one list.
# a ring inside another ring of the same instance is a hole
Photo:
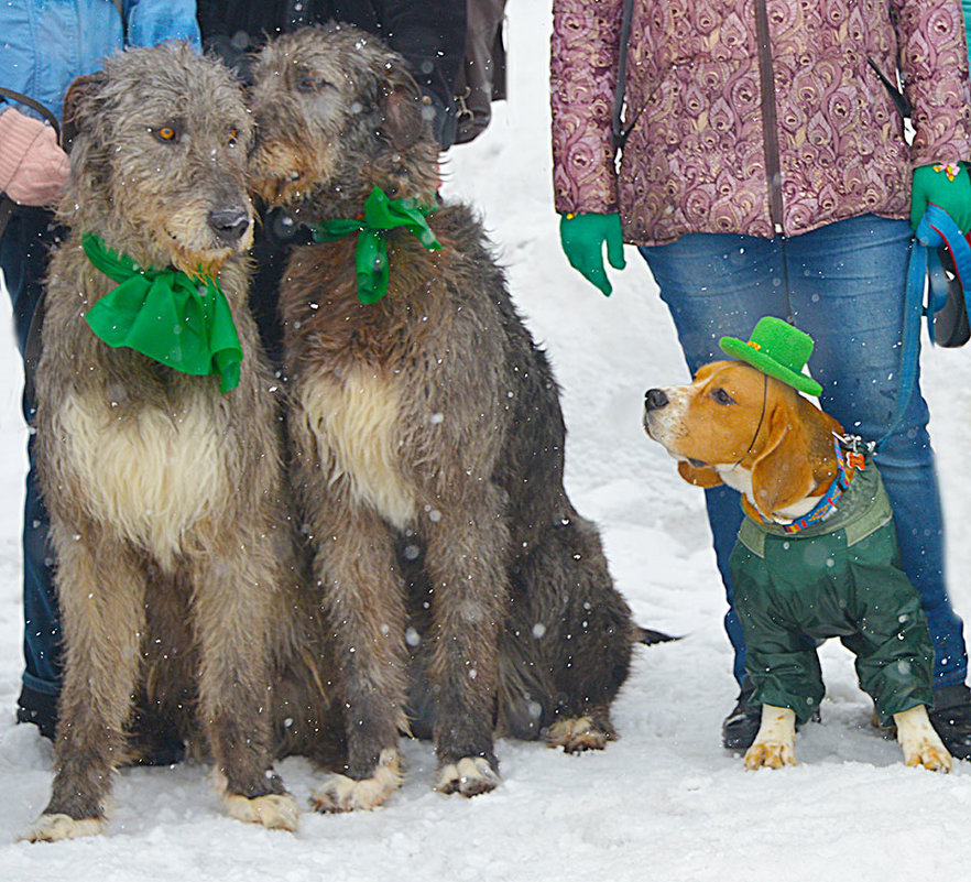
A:
{"label": "whole pair of blue jeans below the purple coat, behind the beagle", "polygon": [[[864,215],[792,238],[691,233],[642,248],[670,309],[688,368],[727,358],[722,336],[749,339],[765,315],[792,320],[816,341],[809,370],[820,404],[847,432],[882,438],[896,415],[910,226]],[[945,587],[943,524],[927,404],[919,373],[904,420],[877,464],[894,509],[904,571],[920,592],[935,647],[935,688],[963,683],[961,619]],[[706,491],[718,568],[728,594],[725,629],[734,675],[745,676],[745,642],[732,607],[729,555],[742,511],[727,487]]]}

